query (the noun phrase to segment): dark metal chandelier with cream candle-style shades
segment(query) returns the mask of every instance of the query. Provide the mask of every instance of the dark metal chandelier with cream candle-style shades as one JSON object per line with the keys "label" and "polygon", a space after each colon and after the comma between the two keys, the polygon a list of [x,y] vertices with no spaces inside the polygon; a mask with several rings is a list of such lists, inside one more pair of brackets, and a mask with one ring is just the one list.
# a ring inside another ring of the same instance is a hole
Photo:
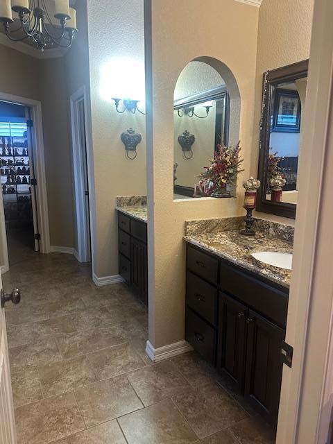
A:
{"label": "dark metal chandelier with cream candle-style shades", "polygon": [[10,40],[28,40],[40,51],[69,48],[77,32],[76,10],[69,0],[1,0],[0,22]]}

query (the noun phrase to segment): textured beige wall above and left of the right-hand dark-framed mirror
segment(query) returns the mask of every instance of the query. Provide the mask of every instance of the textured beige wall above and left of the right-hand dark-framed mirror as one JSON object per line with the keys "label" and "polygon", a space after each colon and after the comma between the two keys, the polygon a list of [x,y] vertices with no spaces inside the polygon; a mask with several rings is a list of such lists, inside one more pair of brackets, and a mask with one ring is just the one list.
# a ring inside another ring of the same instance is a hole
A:
{"label": "textured beige wall above and left of the right-hand dark-framed mirror", "polygon": [[314,0],[263,0],[259,9],[255,127],[251,172],[258,171],[262,75],[309,58]]}

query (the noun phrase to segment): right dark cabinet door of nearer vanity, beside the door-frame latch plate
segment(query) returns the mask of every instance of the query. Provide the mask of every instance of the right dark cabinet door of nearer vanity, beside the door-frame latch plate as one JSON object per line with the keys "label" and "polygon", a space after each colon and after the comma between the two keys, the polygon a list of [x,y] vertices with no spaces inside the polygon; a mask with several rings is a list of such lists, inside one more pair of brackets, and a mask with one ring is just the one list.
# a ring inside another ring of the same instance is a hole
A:
{"label": "right dark cabinet door of nearer vanity, beside the door-frame latch plate", "polygon": [[245,396],[271,424],[278,422],[285,332],[249,310]]}

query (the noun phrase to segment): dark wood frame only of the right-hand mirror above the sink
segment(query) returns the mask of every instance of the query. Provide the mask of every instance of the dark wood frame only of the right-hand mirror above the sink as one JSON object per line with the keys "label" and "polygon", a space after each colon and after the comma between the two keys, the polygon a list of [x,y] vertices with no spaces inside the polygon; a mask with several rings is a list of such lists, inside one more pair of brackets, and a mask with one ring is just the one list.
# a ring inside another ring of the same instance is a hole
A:
{"label": "dark wood frame only of the right-hand mirror above the sink", "polygon": [[260,121],[260,140],[259,140],[259,167],[258,178],[262,186],[257,193],[257,211],[277,216],[289,217],[295,219],[296,205],[293,203],[272,202],[266,199],[267,189],[267,164],[270,144],[270,125],[271,125],[271,101],[273,87],[284,82],[292,82],[298,78],[307,77],[309,69],[309,60],[294,63],[286,67],[274,69],[264,73],[263,93],[262,93],[262,118]]}

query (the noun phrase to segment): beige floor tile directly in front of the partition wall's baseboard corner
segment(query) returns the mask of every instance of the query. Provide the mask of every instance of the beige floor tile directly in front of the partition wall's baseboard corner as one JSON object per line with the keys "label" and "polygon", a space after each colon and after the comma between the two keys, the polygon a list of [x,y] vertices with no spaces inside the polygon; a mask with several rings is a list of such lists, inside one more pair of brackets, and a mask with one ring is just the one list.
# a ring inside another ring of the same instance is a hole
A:
{"label": "beige floor tile directly in front of the partition wall's baseboard corner", "polygon": [[162,361],[153,366],[128,373],[130,384],[144,405],[150,405],[191,388],[171,361]]}

